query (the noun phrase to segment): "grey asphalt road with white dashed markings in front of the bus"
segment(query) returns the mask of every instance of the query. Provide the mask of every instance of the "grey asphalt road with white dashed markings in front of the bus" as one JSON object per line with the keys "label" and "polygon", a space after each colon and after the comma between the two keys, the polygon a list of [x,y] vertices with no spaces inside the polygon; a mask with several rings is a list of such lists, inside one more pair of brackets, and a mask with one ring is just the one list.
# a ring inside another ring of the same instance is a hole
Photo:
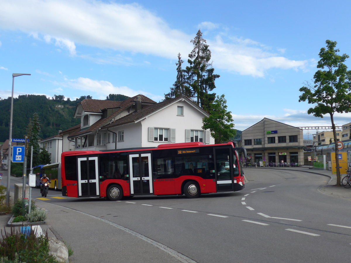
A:
{"label": "grey asphalt road with white dashed markings in front of the bus", "polygon": [[[48,200],[47,223],[71,262],[350,262],[350,201],[317,191],[327,177],[245,169],[235,193]],[[56,197],[56,198],[54,198]]]}

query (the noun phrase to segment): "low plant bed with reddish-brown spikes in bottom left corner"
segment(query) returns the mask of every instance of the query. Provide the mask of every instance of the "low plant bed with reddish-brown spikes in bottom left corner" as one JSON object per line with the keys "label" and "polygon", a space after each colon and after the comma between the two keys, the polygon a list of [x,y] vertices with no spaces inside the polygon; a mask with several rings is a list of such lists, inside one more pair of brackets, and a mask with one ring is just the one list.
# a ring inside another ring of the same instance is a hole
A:
{"label": "low plant bed with reddish-brown spikes in bottom left corner", "polygon": [[[0,258],[6,257],[4,262],[48,262],[57,263],[54,256],[49,254],[49,239],[47,232],[45,236],[37,237],[35,232],[31,230],[28,235],[22,234],[20,231],[14,231],[5,234],[1,230],[0,242]],[[17,254],[17,259],[16,259]]]}

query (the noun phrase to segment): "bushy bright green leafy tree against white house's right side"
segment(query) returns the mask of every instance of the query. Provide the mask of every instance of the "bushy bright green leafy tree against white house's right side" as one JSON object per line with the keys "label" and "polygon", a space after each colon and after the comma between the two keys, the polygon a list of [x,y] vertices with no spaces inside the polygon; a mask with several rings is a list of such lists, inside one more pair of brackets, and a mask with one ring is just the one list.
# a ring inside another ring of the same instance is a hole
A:
{"label": "bushy bright green leafy tree against white house's right side", "polygon": [[232,114],[227,111],[226,103],[227,101],[224,98],[224,94],[217,96],[216,100],[213,101],[210,116],[204,117],[202,121],[202,128],[211,131],[215,143],[229,141],[229,139],[234,137],[236,133],[233,129],[234,124],[232,123]]}

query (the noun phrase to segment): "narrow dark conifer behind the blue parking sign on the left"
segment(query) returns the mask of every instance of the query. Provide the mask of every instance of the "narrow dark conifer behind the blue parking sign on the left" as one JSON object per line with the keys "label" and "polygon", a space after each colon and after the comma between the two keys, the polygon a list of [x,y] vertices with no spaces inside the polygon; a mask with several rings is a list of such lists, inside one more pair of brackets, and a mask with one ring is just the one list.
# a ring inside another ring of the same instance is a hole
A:
{"label": "narrow dark conifer behind the blue parking sign on the left", "polygon": [[[27,161],[30,164],[30,160],[31,160],[31,146],[33,146],[33,167],[37,166],[40,163],[40,159],[39,159],[39,153],[40,153],[40,145],[39,145],[39,141],[40,141],[40,129],[41,129],[41,124],[40,124],[40,120],[39,120],[39,115],[38,113],[34,113],[33,114],[33,118],[29,118],[29,123],[28,123],[28,127],[27,127],[27,137],[29,139],[29,143],[27,144],[28,146],[28,151],[27,151]],[[28,164],[27,164],[27,167]]]}

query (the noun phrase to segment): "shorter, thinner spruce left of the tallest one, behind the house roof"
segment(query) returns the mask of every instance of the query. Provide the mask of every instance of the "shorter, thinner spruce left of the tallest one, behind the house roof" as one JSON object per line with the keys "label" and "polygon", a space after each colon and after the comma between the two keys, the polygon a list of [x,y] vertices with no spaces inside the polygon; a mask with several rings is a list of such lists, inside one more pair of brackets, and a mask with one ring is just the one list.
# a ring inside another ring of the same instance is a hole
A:
{"label": "shorter, thinner spruce left of the tallest one, behind the house roof", "polygon": [[193,92],[190,87],[187,85],[186,81],[186,72],[184,69],[181,68],[183,64],[183,60],[181,59],[180,53],[178,53],[178,62],[176,63],[177,66],[177,79],[173,84],[173,87],[170,88],[170,93],[165,94],[165,99],[176,98],[181,95],[185,95],[186,97],[190,98],[193,96]]}

